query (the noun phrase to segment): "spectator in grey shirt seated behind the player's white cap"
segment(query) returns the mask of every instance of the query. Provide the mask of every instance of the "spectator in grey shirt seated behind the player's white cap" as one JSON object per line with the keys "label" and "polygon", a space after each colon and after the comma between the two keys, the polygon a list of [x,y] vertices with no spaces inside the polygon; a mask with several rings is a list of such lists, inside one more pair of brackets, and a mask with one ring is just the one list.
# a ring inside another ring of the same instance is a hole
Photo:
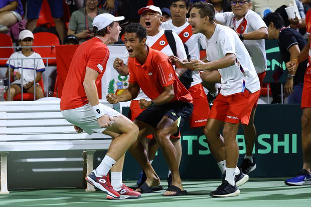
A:
{"label": "spectator in grey shirt seated behind the player's white cap", "polygon": [[93,38],[93,19],[99,14],[108,13],[98,8],[98,4],[98,0],[86,0],[85,8],[72,13],[67,35],[75,35],[80,43]]}

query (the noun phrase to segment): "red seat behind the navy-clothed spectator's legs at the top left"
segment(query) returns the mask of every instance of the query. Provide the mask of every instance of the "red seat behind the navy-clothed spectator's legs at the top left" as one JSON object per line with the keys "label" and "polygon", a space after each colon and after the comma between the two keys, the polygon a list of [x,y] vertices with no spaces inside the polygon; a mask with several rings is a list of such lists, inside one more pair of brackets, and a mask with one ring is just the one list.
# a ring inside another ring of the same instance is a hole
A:
{"label": "red seat behind the navy-clothed spectator's legs at the top left", "polygon": [[[66,1],[63,1],[63,7],[64,7],[64,22],[65,25],[68,26],[69,20],[70,20],[70,12],[69,7],[66,3]],[[39,18],[37,21],[37,27],[44,24],[51,24],[52,27],[55,27],[55,22],[53,20],[50,5],[47,0],[44,0],[41,6]]]}

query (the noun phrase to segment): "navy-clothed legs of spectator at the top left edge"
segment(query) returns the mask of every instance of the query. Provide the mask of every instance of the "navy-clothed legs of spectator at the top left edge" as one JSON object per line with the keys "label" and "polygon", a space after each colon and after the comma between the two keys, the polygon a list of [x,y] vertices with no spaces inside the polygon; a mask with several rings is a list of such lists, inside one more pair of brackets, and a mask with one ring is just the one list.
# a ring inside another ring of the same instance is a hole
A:
{"label": "navy-clothed legs of spectator at the top left edge", "polygon": [[[34,31],[37,26],[37,20],[39,18],[41,5],[43,0],[28,0],[27,1],[27,25],[26,29]],[[63,21],[64,17],[64,7],[62,0],[48,0],[53,20],[55,22],[56,31],[61,42],[66,36],[65,23]]]}

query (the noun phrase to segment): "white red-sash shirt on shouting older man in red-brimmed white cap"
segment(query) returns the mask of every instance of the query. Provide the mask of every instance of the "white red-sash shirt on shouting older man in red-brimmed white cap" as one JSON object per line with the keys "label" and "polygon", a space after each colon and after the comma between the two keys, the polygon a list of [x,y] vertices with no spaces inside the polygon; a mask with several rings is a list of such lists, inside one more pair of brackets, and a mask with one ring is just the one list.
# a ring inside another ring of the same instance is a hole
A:
{"label": "white red-sash shirt on shouting older man in red-brimmed white cap", "polygon": [[[180,39],[180,37],[176,33],[173,32],[172,34],[173,34],[173,36],[175,38],[175,42],[176,42],[177,57],[180,60],[187,59],[187,54],[186,54],[182,40]],[[149,46],[150,48],[154,49],[154,50],[158,50],[158,51],[163,52],[167,56],[174,55],[168,41],[165,38],[164,30],[161,30],[157,35],[147,36],[146,45]],[[124,53],[122,60],[123,60],[123,63],[125,65],[128,65],[127,64],[127,62],[128,62],[128,52],[127,51]],[[150,100],[141,90],[140,90],[137,98],[135,98],[134,100],[140,100],[140,99]]]}

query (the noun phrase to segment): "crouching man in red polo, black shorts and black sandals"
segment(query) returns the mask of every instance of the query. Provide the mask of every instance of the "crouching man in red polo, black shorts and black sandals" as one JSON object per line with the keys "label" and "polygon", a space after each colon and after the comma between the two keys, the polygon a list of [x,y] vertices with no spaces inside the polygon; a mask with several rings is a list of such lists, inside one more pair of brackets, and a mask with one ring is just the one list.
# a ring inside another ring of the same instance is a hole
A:
{"label": "crouching man in red polo, black shorts and black sandals", "polygon": [[193,110],[192,97],[179,81],[169,57],[160,51],[146,46],[146,30],[140,24],[131,24],[125,28],[125,47],[129,53],[129,86],[120,95],[108,94],[109,103],[129,101],[139,93],[139,88],[151,101],[140,99],[141,112],[134,123],[139,128],[137,141],[130,152],[146,173],[147,179],[138,191],[152,191],[154,175],[148,173],[152,169],[140,139],[147,134],[154,134],[172,171],[172,185],[164,193],[165,196],[182,195],[182,180],[179,174],[179,161],[176,148],[170,140],[178,131],[179,117],[188,118]]}

